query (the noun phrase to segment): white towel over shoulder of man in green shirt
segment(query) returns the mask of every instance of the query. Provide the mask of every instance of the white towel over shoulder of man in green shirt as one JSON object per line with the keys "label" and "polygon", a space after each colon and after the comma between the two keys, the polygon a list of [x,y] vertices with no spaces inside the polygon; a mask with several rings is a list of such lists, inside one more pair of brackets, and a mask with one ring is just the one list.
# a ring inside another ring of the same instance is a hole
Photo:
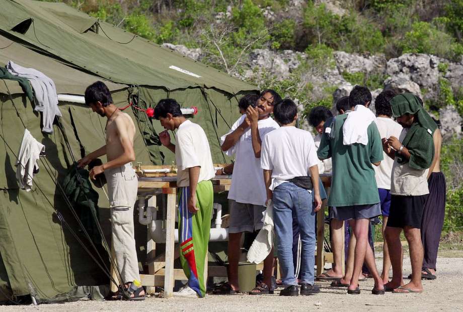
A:
{"label": "white towel over shoulder of man in green shirt", "polygon": [[360,143],[363,145],[368,144],[368,126],[376,119],[373,112],[363,106],[355,106],[355,110],[351,111],[344,121],[342,126],[343,143],[344,145],[351,145]]}

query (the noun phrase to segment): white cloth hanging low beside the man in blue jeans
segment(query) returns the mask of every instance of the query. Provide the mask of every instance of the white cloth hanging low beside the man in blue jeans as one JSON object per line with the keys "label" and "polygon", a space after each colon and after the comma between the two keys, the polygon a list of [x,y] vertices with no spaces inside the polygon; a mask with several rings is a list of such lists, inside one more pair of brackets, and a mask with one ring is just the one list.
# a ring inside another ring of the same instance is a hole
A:
{"label": "white cloth hanging low beside the man in blue jeans", "polygon": [[270,254],[275,231],[273,230],[273,202],[270,200],[262,218],[264,226],[257,234],[248,252],[248,262],[261,263]]}

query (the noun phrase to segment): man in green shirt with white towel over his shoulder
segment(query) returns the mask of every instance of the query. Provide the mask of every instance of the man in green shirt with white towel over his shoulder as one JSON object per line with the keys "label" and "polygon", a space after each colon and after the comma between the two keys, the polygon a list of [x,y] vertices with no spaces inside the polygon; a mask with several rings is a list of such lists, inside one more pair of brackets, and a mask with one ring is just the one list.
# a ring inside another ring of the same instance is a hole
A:
{"label": "man in green shirt with white towel over his shoulder", "polygon": [[[368,246],[368,222],[381,214],[373,165],[383,160],[382,143],[375,115],[368,109],[371,93],[366,87],[355,86],[349,103],[355,109],[341,114],[333,122],[325,122],[318,157],[330,158],[333,180],[328,205],[338,220],[347,221],[357,239],[354,266],[346,268],[346,275],[336,286],[347,286],[349,294],[359,294],[358,276],[366,263],[374,278],[373,294],[383,294],[382,280],[376,270],[374,256]],[[349,263],[349,261],[348,261]]]}

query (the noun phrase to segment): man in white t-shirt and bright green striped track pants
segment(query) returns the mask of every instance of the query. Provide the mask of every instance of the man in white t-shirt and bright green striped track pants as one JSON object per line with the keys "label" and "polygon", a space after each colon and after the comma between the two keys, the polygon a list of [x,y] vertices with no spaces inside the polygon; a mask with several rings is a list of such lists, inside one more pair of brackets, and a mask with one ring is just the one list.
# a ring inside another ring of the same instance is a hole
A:
{"label": "man in white t-shirt and bright green striped track pants", "polygon": [[[215,176],[209,142],[204,130],[187,120],[174,99],[159,101],[155,117],[166,129],[159,134],[161,143],[175,153],[179,188],[180,262],[188,284],[174,296],[204,297],[207,281],[207,246],[214,194]],[[169,130],[174,131],[177,145],[172,144]]]}

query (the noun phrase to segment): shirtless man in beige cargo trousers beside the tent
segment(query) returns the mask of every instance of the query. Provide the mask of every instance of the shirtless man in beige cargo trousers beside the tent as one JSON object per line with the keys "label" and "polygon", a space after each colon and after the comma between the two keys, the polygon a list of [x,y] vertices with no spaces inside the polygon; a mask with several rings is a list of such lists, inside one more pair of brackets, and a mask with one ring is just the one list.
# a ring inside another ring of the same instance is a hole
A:
{"label": "shirtless man in beige cargo trousers beside the tent", "polygon": [[[116,257],[117,269],[129,288],[134,281],[140,280],[138,261],[133,233],[133,206],[137,196],[138,180],[132,168],[135,160],[133,138],[135,126],[132,118],[113,104],[108,87],[101,81],[87,87],[85,102],[106,122],[106,144],[98,150],[79,160],[79,167],[85,167],[93,159],[106,155],[108,162],[95,166],[90,171],[90,178],[103,173],[108,181],[108,196],[111,207],[112,243]],[[130,292],[129,300],[143,300],[143,287]],[[118,300],[122,294],[115,293],[110,299]]]}

